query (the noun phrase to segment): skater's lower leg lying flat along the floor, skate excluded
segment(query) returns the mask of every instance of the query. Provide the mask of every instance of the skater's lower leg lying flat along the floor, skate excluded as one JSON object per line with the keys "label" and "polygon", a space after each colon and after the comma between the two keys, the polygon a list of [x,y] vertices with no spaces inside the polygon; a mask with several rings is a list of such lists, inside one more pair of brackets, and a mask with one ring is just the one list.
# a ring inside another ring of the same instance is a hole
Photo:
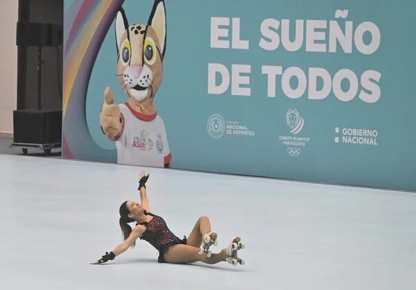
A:
{"label": "skater's lower leg lying flat along the floor, skate excluded", "polygon": [[216,264],[223,262],[228,257],[227,249],[223,249],[218,254],[212,254],[211,257],[207,255],[199,255],[199,248],[189,245],[175,245],[171,246],[164,254],[164,261],[173,264],[187,264],[193,262],[204,262],[206,264]]}

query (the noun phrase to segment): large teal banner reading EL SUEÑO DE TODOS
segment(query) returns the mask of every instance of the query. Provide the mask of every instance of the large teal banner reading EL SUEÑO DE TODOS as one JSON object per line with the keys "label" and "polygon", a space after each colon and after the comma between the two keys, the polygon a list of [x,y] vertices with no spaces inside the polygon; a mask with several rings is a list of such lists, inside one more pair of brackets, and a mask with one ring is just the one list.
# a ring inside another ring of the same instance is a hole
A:
{"label": "large teal banner reading EL SUE\u00d1O DE TODOS", "polygon": [[64,156],[416,190],[416,2],[65,1]]}

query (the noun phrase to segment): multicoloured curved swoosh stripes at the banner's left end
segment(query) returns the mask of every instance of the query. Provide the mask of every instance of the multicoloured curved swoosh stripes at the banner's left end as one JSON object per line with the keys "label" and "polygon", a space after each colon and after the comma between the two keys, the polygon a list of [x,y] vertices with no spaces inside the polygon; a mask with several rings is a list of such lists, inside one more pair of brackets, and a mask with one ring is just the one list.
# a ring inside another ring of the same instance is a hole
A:
{"label": "multicoloured curved swoosh stripes at the banner's left end", "polygon": [[115,149],[101,148],[92,139],[87,127],[85,101],[98,51],[123,2],[76,0],[64,11],[64,157],[116,162]]}

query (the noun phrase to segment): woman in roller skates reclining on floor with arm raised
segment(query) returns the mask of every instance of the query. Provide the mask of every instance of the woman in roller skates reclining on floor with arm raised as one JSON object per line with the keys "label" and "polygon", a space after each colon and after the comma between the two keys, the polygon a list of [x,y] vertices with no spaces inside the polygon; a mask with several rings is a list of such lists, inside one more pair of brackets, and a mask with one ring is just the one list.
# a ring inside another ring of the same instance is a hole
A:
{"label": "woman in roller skates reclining on floor with arm raised", "polygon": [[[216,264],[227,261],[230,264],[244,264],[244,260],[237,257],[237,250],[244,248],[240,237],[234,237],[227,248],[220,253],[213,254],[209,250],[211,245],[217,244],[217,234],[211,231],[211,223],[207,216],[201,216],[193,227],[188,239],[179,239],[168,229],[161,216],[150,213],[146,193],[146,181],[149,175],[140,173],[139,191],[141,204],[135,201],[125,201],[120,206],[120,227],[123,232],[123,243],[116,246],[110,253],[105,253],[101,259],[91,264],[101,264],[114,259],[130,246],[133,248],[138,238],[148,241],[159,251],[158,262],[187,264],[204,262]],[[135,222],[135,228],[128,223]]]}

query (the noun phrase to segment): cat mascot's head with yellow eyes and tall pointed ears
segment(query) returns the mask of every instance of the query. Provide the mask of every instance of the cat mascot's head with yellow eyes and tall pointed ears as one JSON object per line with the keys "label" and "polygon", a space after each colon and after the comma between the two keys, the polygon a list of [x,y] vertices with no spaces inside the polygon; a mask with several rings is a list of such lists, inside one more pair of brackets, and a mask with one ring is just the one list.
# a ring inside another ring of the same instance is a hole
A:
{"label": "cat mascot's head with yellow eyes and tall pointed ears", "polygon": [[166,12],[156,1],[149,24],[128,26],[124,11],[116,16],[119,81],[134,101],[153,99],[163,76],[166,44]]}

